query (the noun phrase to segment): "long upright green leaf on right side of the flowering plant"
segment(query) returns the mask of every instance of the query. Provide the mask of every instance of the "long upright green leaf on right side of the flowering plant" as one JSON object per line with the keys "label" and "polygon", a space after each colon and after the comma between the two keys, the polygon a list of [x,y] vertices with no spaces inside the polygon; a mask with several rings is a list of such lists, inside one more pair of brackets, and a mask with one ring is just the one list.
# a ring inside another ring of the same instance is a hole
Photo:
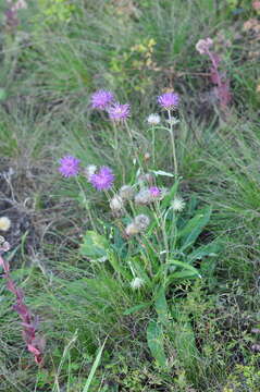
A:
{"label": "long upright green leaf on right side of the flowering plant", "polygon": [[177,237],[182,241],[181,252],[193,245],[198,238],[202,229],[210,220],[211,207],[205,207],[197,211],[196,216],[191,218],[185,226],[178,231]]}

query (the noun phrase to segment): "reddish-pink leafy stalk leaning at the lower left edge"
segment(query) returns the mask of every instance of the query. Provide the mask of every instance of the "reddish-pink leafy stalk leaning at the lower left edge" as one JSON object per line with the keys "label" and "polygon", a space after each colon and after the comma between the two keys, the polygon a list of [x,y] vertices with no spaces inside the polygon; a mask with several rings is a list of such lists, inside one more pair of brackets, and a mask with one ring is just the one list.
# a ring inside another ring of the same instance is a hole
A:
{"label": "reddish-pink leafy stalk leaning at the lower left edge", "polygon": [[44,339],[37,335],[38,319],[34,317],[24,303],[24,293],[22,289],[16,287],[15,282],[10,277],[10,266],[7,260],[3,259],[2,254],[10,249],[8,242],[1,237],[0,244],[0,266],[3,268],[3,278],[7,280],[7,289],[14,294],[16,304],[13,305],[13,309],[20,315],[23,327],[23,338],[26,343],[27,350],[34,355],[37,365],[41,366],[44,363]]}

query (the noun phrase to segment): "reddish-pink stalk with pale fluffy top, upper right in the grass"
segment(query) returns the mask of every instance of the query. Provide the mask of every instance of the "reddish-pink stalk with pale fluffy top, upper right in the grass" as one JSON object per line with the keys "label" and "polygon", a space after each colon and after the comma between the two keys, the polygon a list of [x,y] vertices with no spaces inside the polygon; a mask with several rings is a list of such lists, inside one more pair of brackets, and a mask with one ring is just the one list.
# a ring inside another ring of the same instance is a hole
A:
{"label": "reddish-pink stalk with pale fluffy top, upper right in the grass", "polygon": [[221,57],[211,50],[213,40],[211,38],[200,39],[196,44],[196,49],[200,54],[206,54],[211,61],[210,79],[215,85],[215,94],[222,109],[226,109],[232,95],[230,89],[230,79],[224,72],[220,71]]}

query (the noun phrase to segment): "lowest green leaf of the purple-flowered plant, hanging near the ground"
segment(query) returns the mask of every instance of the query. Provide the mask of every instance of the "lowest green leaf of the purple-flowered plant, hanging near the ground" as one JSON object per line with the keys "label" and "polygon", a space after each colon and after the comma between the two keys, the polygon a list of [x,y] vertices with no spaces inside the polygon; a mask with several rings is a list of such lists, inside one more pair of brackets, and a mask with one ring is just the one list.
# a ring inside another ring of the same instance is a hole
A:
{"label": "lowest green leaf of the purple-flowered plant, hanging near the ground", "polygon": [[158,365],[166,367],[166,356],[163,347],[163,330],[162,326],[156,321],[150,321],[147,327],[147,343]]}

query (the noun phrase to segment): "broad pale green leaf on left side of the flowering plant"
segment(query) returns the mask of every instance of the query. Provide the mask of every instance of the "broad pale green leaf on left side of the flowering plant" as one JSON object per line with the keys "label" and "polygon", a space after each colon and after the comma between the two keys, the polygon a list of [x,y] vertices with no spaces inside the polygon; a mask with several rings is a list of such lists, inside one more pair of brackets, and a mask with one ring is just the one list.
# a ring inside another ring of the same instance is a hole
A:
{"label": "broad pale green leaf on left side of the flowering plant", "polygon": [[99,259],[108,257],[109,243],[103,235],[95,231],[87,231],[84,236],[84,242],[81,245],[79,252],[82,255],[91,259]]}

